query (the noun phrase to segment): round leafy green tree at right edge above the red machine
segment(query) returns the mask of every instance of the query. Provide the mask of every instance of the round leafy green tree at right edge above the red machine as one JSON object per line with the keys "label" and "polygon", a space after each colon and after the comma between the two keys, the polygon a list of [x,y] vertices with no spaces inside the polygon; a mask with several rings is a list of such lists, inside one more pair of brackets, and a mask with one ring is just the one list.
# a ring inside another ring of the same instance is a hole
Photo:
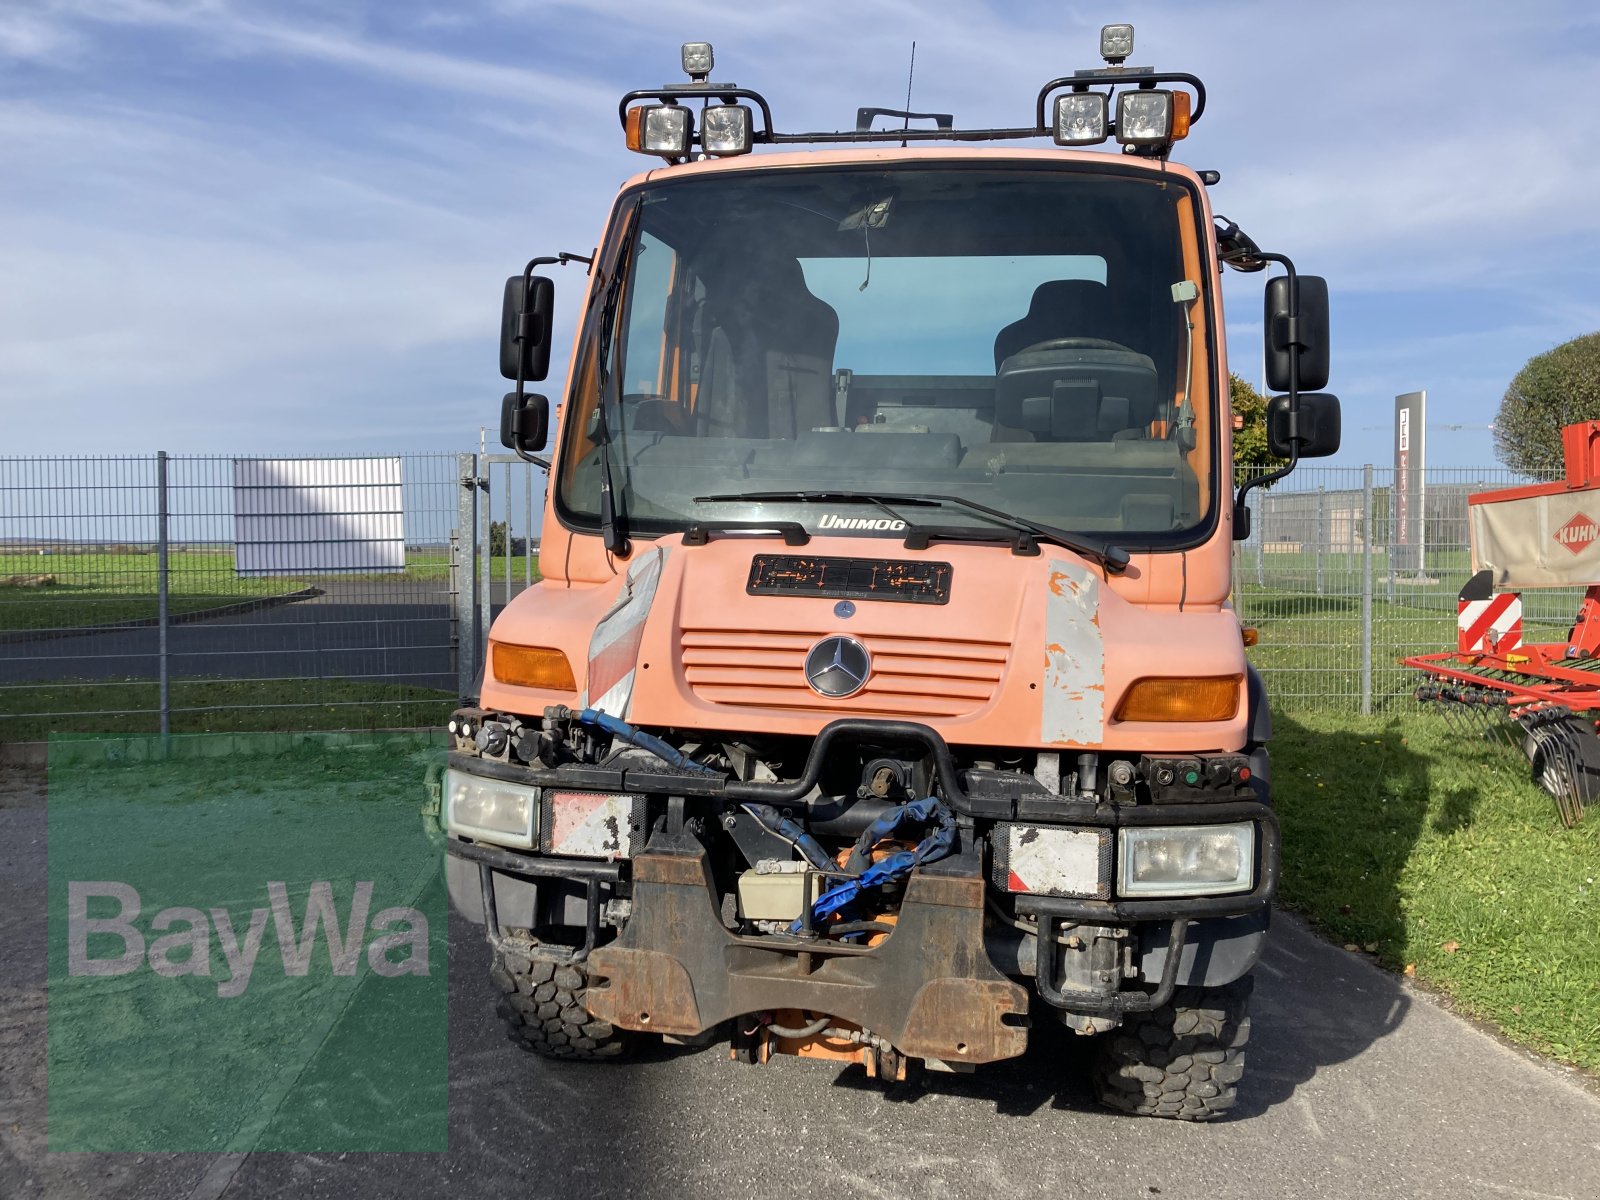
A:
{"label": "round leafy green tree at right edge above the red machine", "polygon": [[1536,354],[1517,371],[1494,418],[1494,454],[1522,475],[1562,469],[1562,426],[1600,421],[1600,333]]}

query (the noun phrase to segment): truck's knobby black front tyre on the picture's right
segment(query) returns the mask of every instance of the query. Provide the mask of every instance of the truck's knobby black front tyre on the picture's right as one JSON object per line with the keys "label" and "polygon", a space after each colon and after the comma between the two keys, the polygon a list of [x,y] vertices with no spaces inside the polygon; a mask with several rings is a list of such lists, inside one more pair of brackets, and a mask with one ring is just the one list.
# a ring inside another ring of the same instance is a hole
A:
{"label": "truck's knobby black front tyre on the picture's right", "polygon": [[1226,987],[1179,987],[1154,1013],[1130,1014],[1094,1066],[1101,1104],[1142,1117],[1216,1120],[1238,1099],[1250,1040],[1246,974]]}

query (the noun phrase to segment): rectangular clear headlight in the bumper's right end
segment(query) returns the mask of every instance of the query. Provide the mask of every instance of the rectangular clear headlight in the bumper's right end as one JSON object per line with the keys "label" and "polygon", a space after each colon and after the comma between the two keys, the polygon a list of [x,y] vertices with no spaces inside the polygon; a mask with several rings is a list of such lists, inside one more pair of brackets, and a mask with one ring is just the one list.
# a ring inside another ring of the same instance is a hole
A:
{"label": "rectangular clear headlight in the bumper's right end", "polygon": [[1256,882],[1256,826],[1125,826],[1117,834],[1122,896],[1226,896]]}

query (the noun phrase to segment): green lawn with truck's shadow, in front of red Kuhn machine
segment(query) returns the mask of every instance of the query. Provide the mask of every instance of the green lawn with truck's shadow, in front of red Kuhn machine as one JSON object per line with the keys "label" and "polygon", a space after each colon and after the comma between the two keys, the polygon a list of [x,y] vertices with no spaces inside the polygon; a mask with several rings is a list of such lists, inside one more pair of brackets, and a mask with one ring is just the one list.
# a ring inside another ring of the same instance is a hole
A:
{"label": "green lawn with truck's shadow, in front of red Kuhn machine", "polygon": [[1462,1011],[1600,1070],[1600,810],[1421,712],[1275,718],[1282,901]]}

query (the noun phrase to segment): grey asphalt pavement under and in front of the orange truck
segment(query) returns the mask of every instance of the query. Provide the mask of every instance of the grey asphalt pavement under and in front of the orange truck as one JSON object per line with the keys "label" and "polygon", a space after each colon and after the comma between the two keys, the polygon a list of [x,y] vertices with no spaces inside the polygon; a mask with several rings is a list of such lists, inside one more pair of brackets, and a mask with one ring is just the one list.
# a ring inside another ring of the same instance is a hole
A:
{"label": "grey asphalt pavement under and in front of the orange truck", "polygon": [[856,1067],[725,1046],[547,1064],[493,1016],[486,952],[451,923],[450,1150],[45,1154],[42,778],[0,778],[0,1197],[1600,1197],[1600,1098],[1280,918],[1242,1106],[1120,1117],[1085,1046],[882,1090]]}

